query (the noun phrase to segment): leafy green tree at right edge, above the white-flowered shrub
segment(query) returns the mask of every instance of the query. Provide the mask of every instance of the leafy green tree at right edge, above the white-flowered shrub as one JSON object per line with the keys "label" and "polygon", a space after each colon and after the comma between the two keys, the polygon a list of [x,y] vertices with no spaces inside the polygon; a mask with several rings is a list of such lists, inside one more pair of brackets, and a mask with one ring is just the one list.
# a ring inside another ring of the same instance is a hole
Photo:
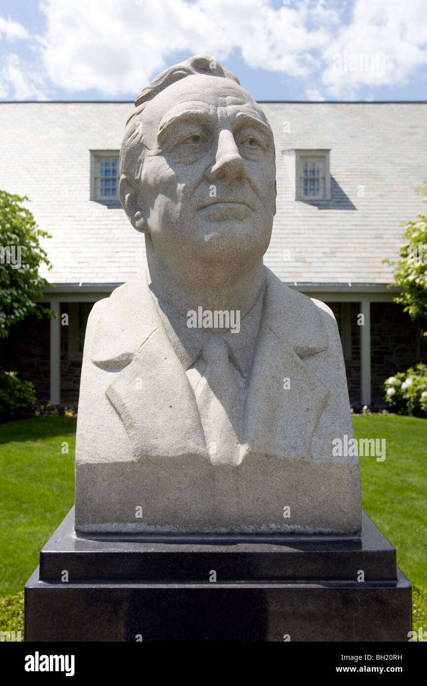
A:
{"label": "leafy green tree at right edge, above the white-flowered shrub", "polygon": [[[427,181],[416,192],[424,196],[423,202],[427,202]],[[427,215],[419,214],[417,221],[406,222],[404,226],[406,242],[400,248],[399,259],[385,260],[395,268],[395,283],[392,285],[402,286],[402,293],[394,298],[394,302],[403,305],[403,311],[411,319],[427,323]]]}

